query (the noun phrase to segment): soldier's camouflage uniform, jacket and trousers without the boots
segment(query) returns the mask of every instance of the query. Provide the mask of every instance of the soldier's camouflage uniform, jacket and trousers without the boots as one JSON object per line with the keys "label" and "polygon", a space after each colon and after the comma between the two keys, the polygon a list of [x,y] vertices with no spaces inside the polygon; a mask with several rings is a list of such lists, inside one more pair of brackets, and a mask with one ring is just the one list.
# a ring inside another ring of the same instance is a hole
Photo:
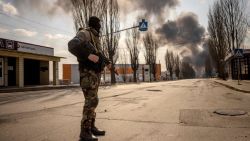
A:
{"label": "soldier's camouflage uniform, jacket and trousers without the boots", "polygon": [[[101,51],[99,35],[94,29],[90,28],[81,30],[77,33],[77,36],[84,41],[91,42],[97,51]],[[81,130],[87,130],[91,128],[91,126],[92,128],[94,126],[93,122],[96,117],[95,109],[99,102],[97,92],[100,84],[101,73],[96,73],[94,70],[86,69],[84,64],[80,62],[79,72],[80,85],[85,98],[81,120]],[[81,134],[83,133],[81,132]]]}

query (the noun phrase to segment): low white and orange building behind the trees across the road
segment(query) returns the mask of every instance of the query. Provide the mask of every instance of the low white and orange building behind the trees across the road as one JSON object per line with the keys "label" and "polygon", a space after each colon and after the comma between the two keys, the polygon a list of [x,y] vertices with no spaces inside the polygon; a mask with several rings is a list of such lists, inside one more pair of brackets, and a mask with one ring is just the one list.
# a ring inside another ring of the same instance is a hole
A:
{"label": "low white and orange building behind the trees across the road", "polygon": [[[117,82],[132,82],[133,81],[133,70],[130,64],[116,64],[116,70],[119,75],[116,75]],[[63,64],[63,81],[68,84],[79,84],[79,71],[78,64]],[[156,64],[156,80],[161,80],[161,64]],[[103,72],[102,82],[110,82],[111,75],[109,70]],[[150,81],[150,71],[149,66],[140,64],[137,70],[137,80],[138,81]],[[153,74],[151,74],[151,80],[154,80]]]}

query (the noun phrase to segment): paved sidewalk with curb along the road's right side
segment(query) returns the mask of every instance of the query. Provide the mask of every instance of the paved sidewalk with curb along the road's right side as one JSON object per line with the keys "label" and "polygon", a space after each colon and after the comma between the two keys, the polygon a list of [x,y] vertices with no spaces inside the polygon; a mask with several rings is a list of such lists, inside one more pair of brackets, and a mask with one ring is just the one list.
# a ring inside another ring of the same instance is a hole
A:
{"label": "paved sidewalk with curb along the road's right side", "polygon": [[240,85],[238,85],[238,80],[226,80],[225,81],[225,80],[220,80],[220,79],[214,79],[214,81],[232,90],[243,92],[243,93],[250,93],[250,80],[241,80]]}

